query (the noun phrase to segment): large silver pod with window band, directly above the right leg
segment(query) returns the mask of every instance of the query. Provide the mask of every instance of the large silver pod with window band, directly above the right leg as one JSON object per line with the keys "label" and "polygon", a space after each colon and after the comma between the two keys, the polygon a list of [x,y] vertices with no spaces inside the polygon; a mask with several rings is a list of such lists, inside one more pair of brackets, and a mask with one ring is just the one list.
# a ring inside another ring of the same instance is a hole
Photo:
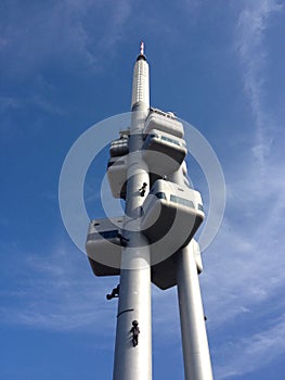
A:
{"label": "large silver pod with window band, directly above the right leg", "polygon": [[173,253],[191,241],[204,217],[198,191],[158,179],[143,204],[142,230],[151,243],[173,246]]}

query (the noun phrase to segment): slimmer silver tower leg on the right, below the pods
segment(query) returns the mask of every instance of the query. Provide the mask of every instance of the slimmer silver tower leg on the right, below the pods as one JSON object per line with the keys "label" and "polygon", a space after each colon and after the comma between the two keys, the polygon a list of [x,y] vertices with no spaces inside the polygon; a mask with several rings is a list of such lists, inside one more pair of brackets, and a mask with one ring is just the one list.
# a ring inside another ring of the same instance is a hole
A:
{"label": "slimmer silver tower leg on the right, below the pods", "polygon": [[177,283],[185,380],[212,380],[198,274],[192,242],[179,252]]}

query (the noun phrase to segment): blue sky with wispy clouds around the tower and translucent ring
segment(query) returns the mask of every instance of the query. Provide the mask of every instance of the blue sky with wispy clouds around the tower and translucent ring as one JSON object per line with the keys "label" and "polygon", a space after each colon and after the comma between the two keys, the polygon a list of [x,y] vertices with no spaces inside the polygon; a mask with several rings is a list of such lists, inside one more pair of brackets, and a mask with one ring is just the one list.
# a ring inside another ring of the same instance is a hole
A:
{"label": "blue sky with wispy clouds around the tower and translucent ring", "polygon": [[[57,188],[75,140],[129,111],[141,39],[152,105],[199,129],[224,172],[200,276],[215,378],[285,378],[284,25],[277,0],[1,2],[1,378],[112,378],[117,279],[92,275]],[[87,176],[91,217],[104,160]],[[176,289],[153,288],[154,379],[183,378],[180,345]]]}

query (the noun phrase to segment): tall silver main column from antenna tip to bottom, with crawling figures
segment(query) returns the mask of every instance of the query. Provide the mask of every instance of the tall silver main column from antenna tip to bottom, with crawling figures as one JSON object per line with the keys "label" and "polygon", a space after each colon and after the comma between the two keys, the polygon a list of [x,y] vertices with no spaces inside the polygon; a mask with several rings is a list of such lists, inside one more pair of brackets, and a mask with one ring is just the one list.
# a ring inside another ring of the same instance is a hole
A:
{"label": "tall silver main column from antenna tip to bottom, with crawling figures", "polygon": [[[151,266],[148,241],[140,232],[141,206],[150,190],[148,168],[141,157],[142,129],[150,106],[148,64],[143,47],[134,65],[132,121],[121,252],[114,380],[152,379]],[[140,188],[146,185],[144,197]],[[139,322],[139,343],[132,343],[132,321]]]}

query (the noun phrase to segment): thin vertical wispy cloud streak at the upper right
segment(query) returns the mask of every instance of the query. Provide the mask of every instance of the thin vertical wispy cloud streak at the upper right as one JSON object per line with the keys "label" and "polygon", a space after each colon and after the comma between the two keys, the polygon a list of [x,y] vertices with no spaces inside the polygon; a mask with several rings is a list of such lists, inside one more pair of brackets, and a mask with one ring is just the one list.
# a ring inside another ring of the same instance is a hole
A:
{"label": "thin vertical wispy cloud streak at the upper right", "polygon": [[245,1],[236,26],[237,51],[242,63],[244,88],[250,101],[256,122],[256,142],[252,154],[258,162],[261,176],[264,161],[270,153],[271,138],[268,125],[272,117],[264,111],[264,67],[268,54],[263,38],[270,17],[283,7],[275,0]]}

